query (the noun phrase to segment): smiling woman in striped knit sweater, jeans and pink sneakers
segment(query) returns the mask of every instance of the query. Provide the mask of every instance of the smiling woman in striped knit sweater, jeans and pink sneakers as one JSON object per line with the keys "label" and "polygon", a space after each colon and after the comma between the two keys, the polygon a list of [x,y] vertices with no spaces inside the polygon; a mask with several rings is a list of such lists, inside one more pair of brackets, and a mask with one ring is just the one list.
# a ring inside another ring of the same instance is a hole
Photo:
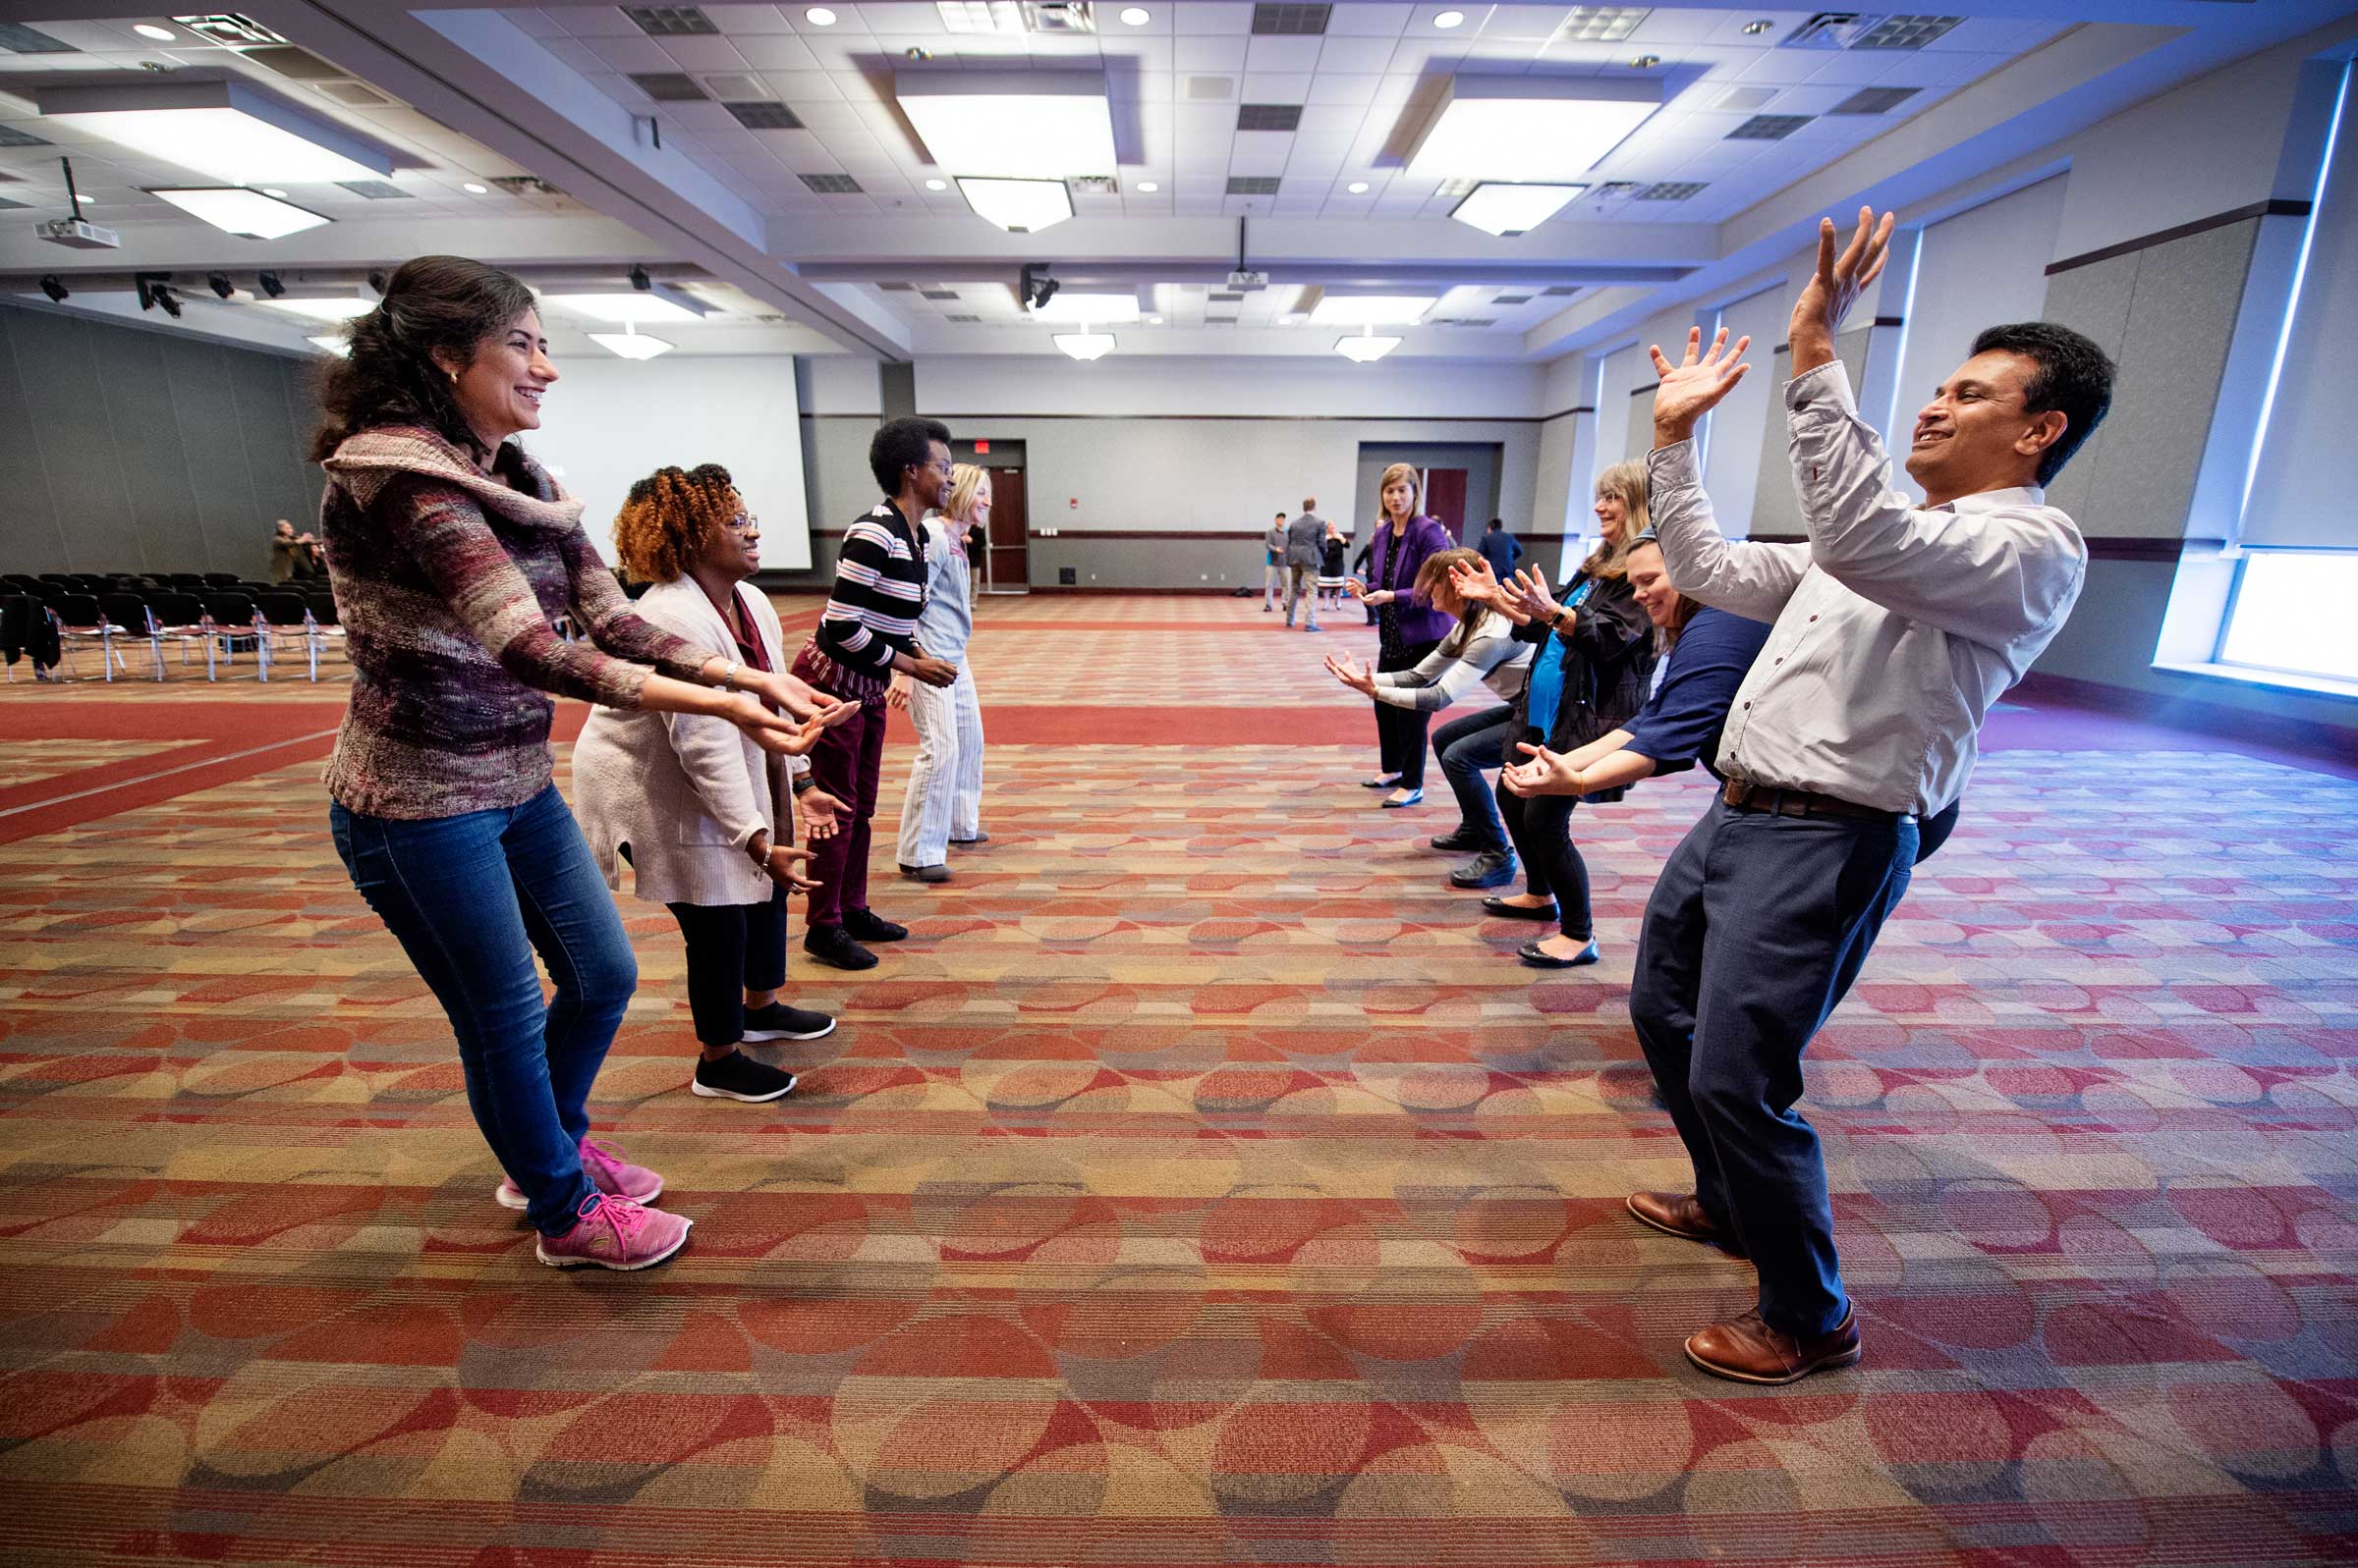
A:
{"label": "smiling woman in striped knit sweater, jeans and pink sneakers", "polygon": [[[542,693],[712,714],[788,755],[835,703],[630,611],[580,502],[509,443],[556,380],[519,278],[417,257],[349,337],[311,441],[354,667],[328,762],[335,849],[450,1016],[467,1106],[507,1172],[495,1195],[526,1212],[540,1261],[646,1269],[689,1221],[646,1207],[663,1177],[590,1137],[639,971],[552,783]],[[556,615],[590,641],[561,639]]]}

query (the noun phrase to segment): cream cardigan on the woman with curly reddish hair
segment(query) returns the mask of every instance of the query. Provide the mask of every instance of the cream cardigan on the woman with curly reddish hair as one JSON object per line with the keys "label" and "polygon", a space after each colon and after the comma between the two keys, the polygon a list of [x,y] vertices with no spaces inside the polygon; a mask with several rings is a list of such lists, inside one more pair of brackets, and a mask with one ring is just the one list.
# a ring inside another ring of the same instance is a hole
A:
{"label": "cream cardigan on the woman with curly reddish hair", "polygon": [[[740,601],[752,606],[769,667],[785,670],[778,611],[759,589]],[[634,608],[707,653],[738,655],[736,637],[689,578],[658,582]],[[766,903],[776,884],[745,844],[757,830],[773,844],[792,842],[780,780],[806,769],[802,757],[771,757],[729,719],[597,707],[573,743],[573,809],[611,889],[623,887],[627,844],[639,898]]]}

